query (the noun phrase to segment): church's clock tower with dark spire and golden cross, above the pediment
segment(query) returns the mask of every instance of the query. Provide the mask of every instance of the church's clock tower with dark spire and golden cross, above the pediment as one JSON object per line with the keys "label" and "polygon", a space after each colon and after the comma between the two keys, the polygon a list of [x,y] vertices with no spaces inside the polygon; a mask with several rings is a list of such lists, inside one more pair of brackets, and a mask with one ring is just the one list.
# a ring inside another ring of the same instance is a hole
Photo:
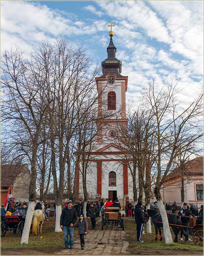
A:
{"label": "church's clock tower with dark spire and golden cross, above the pediment", "polygon": [[98,90],[98,120],[105,118],[106,126],[99,127],[98,143],[107,143],[116,135],[119,124],[127,124],[125,109],[125,92],[128,87],[128,76],[121,75],[122,62],[116,58],[117,48],[113,43],[112,27],[109,32],[110,42],[107,47],[107,59],[103,60],[102,76],[95,78]]}

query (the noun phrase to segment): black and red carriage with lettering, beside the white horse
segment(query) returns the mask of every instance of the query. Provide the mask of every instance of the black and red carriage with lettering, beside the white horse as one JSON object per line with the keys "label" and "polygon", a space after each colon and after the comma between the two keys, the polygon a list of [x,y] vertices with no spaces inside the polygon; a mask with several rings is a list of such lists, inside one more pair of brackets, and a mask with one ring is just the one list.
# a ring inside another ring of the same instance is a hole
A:
{"label": "black and red carriage with lettering, beside the white horse", "polygon": [[6,231],[13,230],[13,233],[21,237],[23,233],[25,219],[20,215],[7,215],[1,222],[1,236],[6,235]]}

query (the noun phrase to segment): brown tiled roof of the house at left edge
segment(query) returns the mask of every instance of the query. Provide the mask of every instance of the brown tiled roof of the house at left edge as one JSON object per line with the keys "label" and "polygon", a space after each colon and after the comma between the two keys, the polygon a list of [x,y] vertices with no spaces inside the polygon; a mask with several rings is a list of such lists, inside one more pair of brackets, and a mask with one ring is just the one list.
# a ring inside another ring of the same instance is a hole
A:
{"label": "brown tiled roof of the house at left edge", "polygon": [[19,174],[28,172],[27,165],[1,165],[1,187],[10,187]]}

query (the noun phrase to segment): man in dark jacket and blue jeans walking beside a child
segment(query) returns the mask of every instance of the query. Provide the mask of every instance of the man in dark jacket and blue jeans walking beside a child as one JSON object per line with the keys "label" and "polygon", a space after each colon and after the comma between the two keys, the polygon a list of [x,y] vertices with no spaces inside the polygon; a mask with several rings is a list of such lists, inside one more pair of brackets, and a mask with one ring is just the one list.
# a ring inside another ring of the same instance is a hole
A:
{"label": "man in dark jacket and blue jeans walking beside a child", "polygon": [[[67,207],[62,210],[60,217],[60,228],[64,231],[64,244],[65,249],[73,249],[74,244],[74,224],[77,220],[77,211],[72,206],[72,200],[67,202]],[[68,239],[68,235],[70,239]]]}

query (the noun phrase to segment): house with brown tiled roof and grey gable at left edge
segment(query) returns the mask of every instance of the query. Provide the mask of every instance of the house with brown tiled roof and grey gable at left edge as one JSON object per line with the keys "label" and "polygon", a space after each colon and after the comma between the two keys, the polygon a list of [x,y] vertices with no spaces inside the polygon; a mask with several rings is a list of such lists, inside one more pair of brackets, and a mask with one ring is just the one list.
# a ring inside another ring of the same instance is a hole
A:
{"label": "house with brown tiled roof and grey gable at left edge", "polygon": [[9,187],[14,201],[29,200],[30,171],[28,165],[1,165],[1,204],[4,204]]}

